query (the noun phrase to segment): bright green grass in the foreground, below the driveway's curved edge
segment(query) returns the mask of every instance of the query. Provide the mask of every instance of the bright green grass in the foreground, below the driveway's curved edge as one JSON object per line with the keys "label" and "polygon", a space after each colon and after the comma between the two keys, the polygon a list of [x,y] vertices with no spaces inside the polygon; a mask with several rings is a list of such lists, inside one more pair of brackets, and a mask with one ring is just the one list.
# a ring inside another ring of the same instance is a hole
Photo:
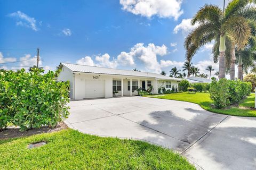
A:
{"label": "bright green grass in the foreground, below the driveway's curved edge", "polygon": [[[47,144],[27,149],[39,141]],[[71,129],[2,140],[0,153],[1,169],[196,169],[169,149]]]}

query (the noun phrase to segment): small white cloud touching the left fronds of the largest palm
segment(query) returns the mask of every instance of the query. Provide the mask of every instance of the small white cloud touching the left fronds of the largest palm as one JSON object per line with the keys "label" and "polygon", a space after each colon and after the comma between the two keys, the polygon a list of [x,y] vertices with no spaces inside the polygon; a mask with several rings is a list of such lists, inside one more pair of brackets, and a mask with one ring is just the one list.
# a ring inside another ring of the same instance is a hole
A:
{"label": "small white cloud touching the left fronds of the largest palm", "polygon": [[195,29],[199,24],[191,25],[191,19],[183,19],[180,24],[176,25],[173,29],[173,33],[177,34],[182,32],[183,36],[186,36],[191,30]]}

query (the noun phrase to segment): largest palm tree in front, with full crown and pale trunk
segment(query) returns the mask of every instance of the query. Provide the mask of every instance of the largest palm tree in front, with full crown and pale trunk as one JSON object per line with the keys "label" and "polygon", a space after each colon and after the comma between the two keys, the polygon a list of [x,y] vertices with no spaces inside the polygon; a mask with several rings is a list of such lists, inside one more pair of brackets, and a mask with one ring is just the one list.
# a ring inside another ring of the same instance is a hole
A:
{"label": "largest palm tree in front, with full crown and pale trunk", "polygon": [[187,61],[191,61],[199,48],[214,40],[213,53],[218,54],[214,62],[219,59],[220,78],[225,78],[225,54],[227,58],[231,58],[230,51],[235,45],[238,49],[244,48],[251,33],[247,18],[255,18],[256,11],[253,7],[247,7],[250,2],[230,1],[226,9],[223,7],[223,11],[217,5],[204,5],[191,20],[192,25],[199,23],[199,26],[185,40]]}

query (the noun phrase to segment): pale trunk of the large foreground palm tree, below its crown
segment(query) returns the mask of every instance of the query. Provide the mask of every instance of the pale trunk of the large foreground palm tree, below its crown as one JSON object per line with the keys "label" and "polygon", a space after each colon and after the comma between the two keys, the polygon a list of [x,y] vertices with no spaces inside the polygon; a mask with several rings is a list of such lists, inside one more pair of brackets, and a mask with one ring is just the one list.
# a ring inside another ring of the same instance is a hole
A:
{"label": "pale trunk of the large foreground palm tree, below its crown", "polygon": [[219,61],[219,77],[220,79],[226,78],[226,64],[225,64],[225,35],[220,36],[220,61]]}

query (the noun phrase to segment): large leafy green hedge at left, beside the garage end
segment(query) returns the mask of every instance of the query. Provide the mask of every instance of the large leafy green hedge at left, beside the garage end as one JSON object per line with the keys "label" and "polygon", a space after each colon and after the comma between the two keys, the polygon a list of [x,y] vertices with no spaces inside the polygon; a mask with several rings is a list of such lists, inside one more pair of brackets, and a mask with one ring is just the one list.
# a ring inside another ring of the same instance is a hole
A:
{"label": "large leafy green hedge at left, beside the garage end", "polygon": [[0,129],[54,127],[69,115],[69,82],[56,82],[57,73],[34,69],[0,70]]}

